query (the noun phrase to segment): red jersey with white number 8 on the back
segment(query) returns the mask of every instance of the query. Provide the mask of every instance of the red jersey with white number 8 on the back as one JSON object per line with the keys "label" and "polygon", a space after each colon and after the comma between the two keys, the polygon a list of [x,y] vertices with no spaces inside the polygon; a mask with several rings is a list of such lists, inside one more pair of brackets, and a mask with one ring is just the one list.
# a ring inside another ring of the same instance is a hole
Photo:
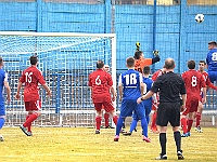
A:
{"label": "red jersey with white number 8 on the back", "polygon": [[199,71],[190,69],[182,73],[182,78],[187,89],[187,96],[200,98],[201,87],[206,87],[203,76]]}

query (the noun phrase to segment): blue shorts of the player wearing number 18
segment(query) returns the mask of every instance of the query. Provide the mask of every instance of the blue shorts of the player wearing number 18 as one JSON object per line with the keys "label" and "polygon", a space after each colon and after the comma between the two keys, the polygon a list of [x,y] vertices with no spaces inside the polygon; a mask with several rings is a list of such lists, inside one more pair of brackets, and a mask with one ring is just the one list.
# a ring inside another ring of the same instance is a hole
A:
{"label": "blue shorts of the player wearing number 18", "polygon": [[122,118],[131,117],[132,112],[137,119],[144,118],[143,103],[137,104],[137,99],[123,99],[119,116]]}

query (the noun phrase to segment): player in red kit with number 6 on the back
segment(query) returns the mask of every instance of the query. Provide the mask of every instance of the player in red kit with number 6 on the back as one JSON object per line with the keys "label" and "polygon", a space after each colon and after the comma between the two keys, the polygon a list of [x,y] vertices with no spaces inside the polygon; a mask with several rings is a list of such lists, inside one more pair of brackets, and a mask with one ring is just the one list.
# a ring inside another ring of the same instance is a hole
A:
{"label": "player in red kit with number 6 on the back", "polygon": [[[88,85],[91,87],[91,97],[97,110],[95,117],[95,134],[100,134],[100,126],[102,122],[102,106],[104,110],[113,117],[113,121],[117,124],[117,114],[112,102],[116,98],[115,91],[112,90],[112,76],[103,70],[103,60],[97,62],[97,70],[89,75]],[[111,99],[112,93],[112,99]]]}

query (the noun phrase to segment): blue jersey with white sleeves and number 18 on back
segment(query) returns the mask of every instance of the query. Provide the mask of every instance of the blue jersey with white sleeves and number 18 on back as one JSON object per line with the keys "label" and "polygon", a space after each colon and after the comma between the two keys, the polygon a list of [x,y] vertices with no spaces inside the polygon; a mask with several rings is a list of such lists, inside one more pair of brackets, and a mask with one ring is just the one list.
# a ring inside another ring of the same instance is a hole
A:
{"label": "blue jersey with white sleeves and number 18 on back", "polygon": [[142,75],[133,69],[129,69],[119,76],[118,84],[123,85],[123,99],[137,99],[141,96],[140,83]]}

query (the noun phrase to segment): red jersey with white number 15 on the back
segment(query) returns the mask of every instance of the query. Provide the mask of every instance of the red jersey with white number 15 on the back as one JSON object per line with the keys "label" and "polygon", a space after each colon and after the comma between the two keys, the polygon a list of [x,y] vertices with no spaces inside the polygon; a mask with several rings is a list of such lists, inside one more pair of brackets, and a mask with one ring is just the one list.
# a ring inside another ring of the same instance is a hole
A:
{"label": "red jersey with white number 15 on the back", "polygon": [[25,69],[22,73],[20,82],[25,83],[24,89],[24,102],[35,102],[39,100],[39,85],[46,84],[41,71],[37,67],[29,67]]}

